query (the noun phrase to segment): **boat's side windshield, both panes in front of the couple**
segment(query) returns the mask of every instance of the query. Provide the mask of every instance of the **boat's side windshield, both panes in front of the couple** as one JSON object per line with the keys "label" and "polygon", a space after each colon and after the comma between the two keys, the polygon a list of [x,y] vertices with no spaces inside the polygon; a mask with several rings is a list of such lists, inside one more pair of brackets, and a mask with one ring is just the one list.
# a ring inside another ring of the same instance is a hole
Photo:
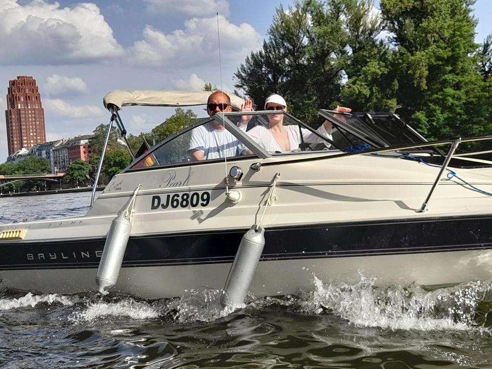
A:
{"label": "boat's side windshield, both panes in front of the couple", "polygon": [[283,111],[217,113],[163,140],[129,169],[336,149],[331,129],[328,121],[313,129]]}

